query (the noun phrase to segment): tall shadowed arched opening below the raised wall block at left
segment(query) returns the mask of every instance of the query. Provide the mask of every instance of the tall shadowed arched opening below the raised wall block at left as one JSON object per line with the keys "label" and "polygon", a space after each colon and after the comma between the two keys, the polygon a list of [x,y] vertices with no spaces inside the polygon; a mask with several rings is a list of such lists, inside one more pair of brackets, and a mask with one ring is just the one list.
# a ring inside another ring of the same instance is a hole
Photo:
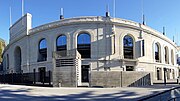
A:
{"label": "tall shadowed arched opening below the raised wall block at left", "polygon": [[21,73],[21,61],[22,61],[22,57],[21,57],[21,48],[20,47],[16,47],[15,51],[14,51],[14,67],[15,67],[15,72],[16,73]]}

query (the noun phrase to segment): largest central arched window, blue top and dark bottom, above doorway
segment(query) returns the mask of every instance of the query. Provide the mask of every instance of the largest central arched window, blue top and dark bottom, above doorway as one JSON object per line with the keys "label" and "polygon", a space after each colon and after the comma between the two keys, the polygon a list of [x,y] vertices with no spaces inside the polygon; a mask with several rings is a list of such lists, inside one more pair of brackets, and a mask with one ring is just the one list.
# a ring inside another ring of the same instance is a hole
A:
{"label": "largest central arched window, blue top and dark bottom, above doorway", "polygon": [[91,37],[87,33],[81,33],[77,37],[77,50],[81,58],[91,58]]}

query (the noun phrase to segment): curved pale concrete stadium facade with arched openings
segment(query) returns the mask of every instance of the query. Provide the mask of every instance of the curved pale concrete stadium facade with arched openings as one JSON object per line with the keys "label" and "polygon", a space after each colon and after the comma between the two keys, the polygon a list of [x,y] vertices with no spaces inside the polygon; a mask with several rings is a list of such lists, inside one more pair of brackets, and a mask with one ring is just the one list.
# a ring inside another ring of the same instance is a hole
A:
{"label": "curved pale concrete stadium facade with arched openings", "polygon": [[[89,71],[126,71],[128,67],[132,67],[133,71],[152,72],[153,79],[157,80],[163,79],[163,70],[166,68],[168,79],[178,76],[177,45],[146,25],[119,18],[96,16],[62,19],[31,28],[31,18],[31,14],[26,14],[10,28],[10,42],[3,54],[3,70],[6,73],[29,73],[34,69],[38,71],[41,67],[52,71],[53,52],[56,51],[58,36],[67,37],[69,51],[77,49],[78,35],[87,33],[90,35],[91,54],[90,58],[82,58],[81,64],[88,65]],[[125,36],[133,39],[132,59],[124,58]],[[47,60],[38,62],[41,39],[47,41]],[[155,59],[156,43],[159,45],[158,62]],[[166,61],[165,47],[168,50]],[[7,59],[7,55],[11,58]]]}

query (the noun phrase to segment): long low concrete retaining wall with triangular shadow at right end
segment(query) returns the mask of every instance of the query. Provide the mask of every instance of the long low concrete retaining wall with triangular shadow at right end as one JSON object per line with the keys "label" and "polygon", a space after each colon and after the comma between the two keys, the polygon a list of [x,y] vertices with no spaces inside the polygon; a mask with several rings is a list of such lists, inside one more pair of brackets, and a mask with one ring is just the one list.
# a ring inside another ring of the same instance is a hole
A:
{"label": "long low concrete retaining wall with triangular shadow at right end", "polygon": [[135,71],[91,71],[90,86],[131,87],[152,83],[151,74]]}

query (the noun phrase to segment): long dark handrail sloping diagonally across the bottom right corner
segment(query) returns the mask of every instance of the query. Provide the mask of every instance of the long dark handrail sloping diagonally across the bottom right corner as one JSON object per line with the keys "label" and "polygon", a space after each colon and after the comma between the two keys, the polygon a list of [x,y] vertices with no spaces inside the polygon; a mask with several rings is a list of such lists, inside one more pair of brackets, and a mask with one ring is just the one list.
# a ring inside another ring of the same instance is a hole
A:
{"label": "long dark handrail sloping diagonally across the bottom right corner", "polygon": [[[172,89],[165,90],[164,92],[160,92],[160,93],[157,93],[157,94],[155,94],[155,95],[151,95],[151,96],[148,96],[148,97],[146,97],[146,98],[142,98],[142,99],[140,99],[140,100],[138,100],[138,101],[145,101],[145,100],[148,100],[148,99],[157,97],[157,96],[159,96],[159,95],[165,94],[165,93],[167,93],[167,92],[169,92],[169,91],[172,91],[172,90],[175,90],[175,89],[179,89],[179,88],[180,88],[180,86],[179,86],[179,87],[174,87],[174,88],[172,88]],[[169,101],[169,100],[168,100],[168,101]]]}

